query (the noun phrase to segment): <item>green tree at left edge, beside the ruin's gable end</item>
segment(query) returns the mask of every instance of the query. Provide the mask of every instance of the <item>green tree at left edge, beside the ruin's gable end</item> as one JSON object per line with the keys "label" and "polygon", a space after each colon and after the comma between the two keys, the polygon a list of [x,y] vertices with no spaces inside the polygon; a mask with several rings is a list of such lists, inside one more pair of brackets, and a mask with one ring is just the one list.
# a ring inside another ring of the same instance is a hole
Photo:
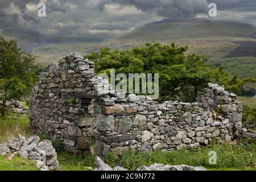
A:
{"label": "green tree at left edge, beside the ruin's gable end", "polygon": [[14,40],[7,41],[0,36],[0,96],[1,113],[6,114],[6,102],[17,101],[30,94],[38,81],[38,65],[35,57],[18,48]]}

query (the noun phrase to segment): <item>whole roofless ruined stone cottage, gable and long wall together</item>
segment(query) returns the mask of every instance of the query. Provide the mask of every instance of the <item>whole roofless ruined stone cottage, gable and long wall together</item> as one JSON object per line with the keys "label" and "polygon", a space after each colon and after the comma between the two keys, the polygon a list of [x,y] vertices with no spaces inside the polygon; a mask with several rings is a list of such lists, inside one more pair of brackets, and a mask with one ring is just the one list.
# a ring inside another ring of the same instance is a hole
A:
{"label": "whole roofless ruined stone cottage, gable and long wall together", "polygon": [[95,143],[98,155],[127,148],[179,150],[213,139],[255,137],[242,129],[237,96],[216,84],[208,84],[195,103],[158,103],[147,96],[102,92],[102,86],[110,87],[94,73],[93,63],[80,55],[54,63],[32,92],[31,128],[59,139],[76,154]]}

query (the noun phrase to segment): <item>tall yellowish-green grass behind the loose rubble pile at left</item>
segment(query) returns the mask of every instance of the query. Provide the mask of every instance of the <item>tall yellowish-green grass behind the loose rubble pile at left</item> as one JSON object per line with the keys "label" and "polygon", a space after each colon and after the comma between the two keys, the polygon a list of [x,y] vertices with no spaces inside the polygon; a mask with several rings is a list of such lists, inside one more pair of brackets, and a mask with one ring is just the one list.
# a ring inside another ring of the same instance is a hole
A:
{"label": "tall yellowish-green grass behind the loose rubble pile at left", "polygon": [[6,117],[0,117],[0,143],[18,136],[32,135],[28,116],[7,113]]}

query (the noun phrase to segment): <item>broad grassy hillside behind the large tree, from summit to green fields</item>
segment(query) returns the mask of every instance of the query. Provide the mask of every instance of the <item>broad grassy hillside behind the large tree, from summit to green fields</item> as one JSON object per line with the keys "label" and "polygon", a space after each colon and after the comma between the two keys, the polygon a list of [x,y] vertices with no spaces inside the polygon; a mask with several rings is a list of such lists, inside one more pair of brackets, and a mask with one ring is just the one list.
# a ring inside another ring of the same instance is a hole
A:
{"label": "broad grassy hillside behind the large tree, from summit to green fields", "polygon": [[253,24],[205,18],[167,18],[106,40],[100,46],[126,49],[146,42],[188,45],[188,54],[210,56],[210,64],[226,65],[232,74],[256,78],[256,26]]}

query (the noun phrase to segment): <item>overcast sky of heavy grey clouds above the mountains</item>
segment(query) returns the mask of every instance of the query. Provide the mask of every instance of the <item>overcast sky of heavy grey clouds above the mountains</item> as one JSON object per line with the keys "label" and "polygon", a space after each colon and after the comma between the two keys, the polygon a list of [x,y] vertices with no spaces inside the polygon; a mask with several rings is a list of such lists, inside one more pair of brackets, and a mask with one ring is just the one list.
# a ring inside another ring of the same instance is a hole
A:
{"label": "overcast sky of heavy grey clouds above the mountains", "polygon": [[[38,16],[40,2],[46,17]],[[255,0],[0,0],[0,28],[19,27],[42,34],[111,38],[164,18],[209,18],[256,25]]]}

